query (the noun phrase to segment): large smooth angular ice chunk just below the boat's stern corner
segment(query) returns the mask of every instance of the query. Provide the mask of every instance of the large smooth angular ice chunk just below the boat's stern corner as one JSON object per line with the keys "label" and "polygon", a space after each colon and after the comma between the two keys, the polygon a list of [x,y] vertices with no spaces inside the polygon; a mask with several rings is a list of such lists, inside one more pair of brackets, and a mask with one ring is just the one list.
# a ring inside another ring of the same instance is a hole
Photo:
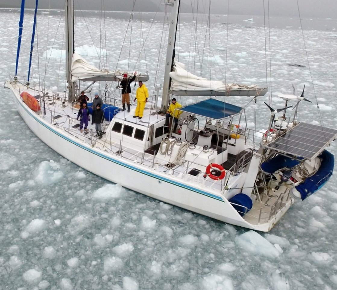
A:
{"label": "large smooth angular ice chunk just below the boat's stern corner", "polygon": [[247,252],[275,258],[280,252],[257,232],[248,231],[235,237],[235,242]]}

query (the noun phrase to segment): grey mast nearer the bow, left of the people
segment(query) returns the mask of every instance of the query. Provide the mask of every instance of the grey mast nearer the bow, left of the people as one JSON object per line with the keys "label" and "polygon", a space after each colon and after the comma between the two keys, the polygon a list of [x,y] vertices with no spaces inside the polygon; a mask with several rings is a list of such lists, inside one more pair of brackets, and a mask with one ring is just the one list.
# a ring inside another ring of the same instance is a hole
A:
{"label": "grey mast nearer the bow, left of the people", "polygon": [[75,52],[74,48],[74,0],[67,0],[66,8],[66,22],[65,22],[65,33],[66,33],[66,74],[67,83],[69,89],[68,99],[70,101],[75,98],[75,86],[71,82],[71,61],[72,55]]}

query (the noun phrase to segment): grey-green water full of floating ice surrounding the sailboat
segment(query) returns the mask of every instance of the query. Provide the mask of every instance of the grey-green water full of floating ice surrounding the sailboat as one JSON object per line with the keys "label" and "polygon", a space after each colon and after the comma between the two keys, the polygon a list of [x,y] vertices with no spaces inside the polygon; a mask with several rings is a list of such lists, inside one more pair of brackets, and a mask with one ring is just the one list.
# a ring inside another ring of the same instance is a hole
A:
{"label": "grey-green water full of floating ice surrounding the sailboat", "polygon": [[[106,19],[102,53],[106,52],[104,63],[111,69],[147,70],[151,92],[154,84],[162,81],[164,55],[159,43],[163,25],[159,20],[151,24],[152,20],[141,19],[133,24],[135,42],[130,45],[127,40],[121,55],[128,18]],[[196,48],[190,39],[193,23],[181,21],[177,57],[196,74],[203,61],[205,77],[266,85],[263,27],[243,21],[248,19],[230,20],[226,49],[224,19],[212,22],[212,40],[209,45],[207,38],[205,53],[196,62],[192,61]],[[4,82],[15,72],[19,14],[2,10],[0,21],[0,76]],[[64,90],[65,74],[58,75],[59,67],[64,67],[64,59],[60,64],[64,25],[59,26],[59,22],[57,13],[39,15],[39,63],[35,56],[31,78],[37,80],[40,71],[43,79],[46,56],[48,59],[50,55],[46,84]],[[27,16],[18,75],[27,75],[31,24],[32,18]],[[272,70],[267,69],[268,86],[273,107],[281,108],[283,101],[274,97],[278,92],[291,94],[294,84],[300,93],[306,84],[305,97],[313,103],[300,103],[299,119],[319,124],[318,103],[323,125],[334,127],[337,25],[334,20],[326,20],[326,24],[329,29],[322,29],[322,24],[306,27],[303,32],[311,74],[299,25],[270,30],[267,63],[271,63]],[[92,43],[100,46],[99,26],[99,15],[76,21],[76,51],[97,66],[100,50],[96,51]],[[47,33],[48,27],[53,33]],[[87,27],[94,31],[89,34]],[[140,51],[146,37],[144,54]],[[197,47],[202,54],[202,40]],[[161,64],[157,68],[158,59]],[[159,77],[155,78],[157,69]],[[104,88],[96,86],[98,89]],[[337,288],[335,175],[315,195],[297,201],[269,233],[254,232],[153,200],[79,168],[31,133],[14,108],[9,90],[1,87],[1,97],[1,290]],[[269,111],[263,104],[268,97],[258,100],[256,126],[261,131],[269,121]],[[243,104],[239,98],[227,101]],[[252,117],[253,112],[247,111]],[[336,155],[336,142],[329,150]]]}

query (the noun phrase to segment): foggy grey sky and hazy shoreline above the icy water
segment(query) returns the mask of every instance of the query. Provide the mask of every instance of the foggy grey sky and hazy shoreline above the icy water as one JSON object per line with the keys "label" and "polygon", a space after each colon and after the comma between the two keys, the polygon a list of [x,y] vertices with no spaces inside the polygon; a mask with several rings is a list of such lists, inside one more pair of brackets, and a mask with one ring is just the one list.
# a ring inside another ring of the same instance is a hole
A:
{"label": "foggy grey sky and hazy shoreline above the icy water", "polygon": [[[39,7],[49,7],[49,3],[63,7],[65,0],[39,0]],[[136,0],[142,10],[154,11],[157,3],[162,0]],[[196,6],[197,0],[182,0],[183,10],[189,9],[192,5]],[[208,0],[199,0],[203,5],[208,5]],[[227,14],[228,0],[211,0],[211,13]],[[265,1],[266,11],[268,10],[267,0],[229,0],[229,14],[243,15],[263,15],[263,3]],[[0,0],[1,7],[20,7],[21,0]],[[80,3],[83,10],[100,7],[100,0],[75,0],[75,4]],[[132,8],[133,0],[105,0],[104,6],[108,10],[127,10]],[[155,3],[155,4],[153,4]],[[298,0],[301,17],[303,18],[337,18],[337,0]],[[35,0],[26,0],[26,7],[34,7]],[[54,8],[54,7],[53,7]],[[271,16],[298,16],[297,0],[269,0],[269,11]]]}

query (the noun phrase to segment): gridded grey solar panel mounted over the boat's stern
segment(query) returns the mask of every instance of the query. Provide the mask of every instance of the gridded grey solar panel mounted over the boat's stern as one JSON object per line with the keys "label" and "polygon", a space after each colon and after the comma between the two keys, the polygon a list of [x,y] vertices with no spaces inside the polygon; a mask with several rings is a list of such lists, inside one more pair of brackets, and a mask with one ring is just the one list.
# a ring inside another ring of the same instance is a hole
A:
{"label": "gridded grey solar panel mounted over the boat's stern", "polygon": [[311,159],[337,136],[336,129],[299,123],[265,147],[279,153]]}

